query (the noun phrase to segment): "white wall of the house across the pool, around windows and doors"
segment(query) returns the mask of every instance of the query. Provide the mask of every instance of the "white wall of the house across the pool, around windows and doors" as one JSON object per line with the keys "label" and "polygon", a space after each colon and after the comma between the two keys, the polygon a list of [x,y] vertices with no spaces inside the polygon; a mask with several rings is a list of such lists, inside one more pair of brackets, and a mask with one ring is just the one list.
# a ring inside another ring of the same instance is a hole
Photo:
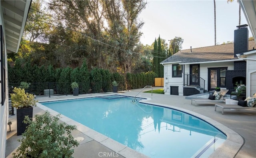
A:
{"label": "white wall of the house across the pool, around windows and doors", "polygon": [[[208,68],[228,67],[228,70],[234,70],[234,62],[218,62],[200,64],[200,77],[205,80],[205,89],[208,90]],[[190,65],[183,67],[185,74],[190,74]],[[181,78],[172,78],[172,64],[164,64],[164,94],[170,95],[170,86],[178,86],[179,95],[183,96],[184,74]]]}

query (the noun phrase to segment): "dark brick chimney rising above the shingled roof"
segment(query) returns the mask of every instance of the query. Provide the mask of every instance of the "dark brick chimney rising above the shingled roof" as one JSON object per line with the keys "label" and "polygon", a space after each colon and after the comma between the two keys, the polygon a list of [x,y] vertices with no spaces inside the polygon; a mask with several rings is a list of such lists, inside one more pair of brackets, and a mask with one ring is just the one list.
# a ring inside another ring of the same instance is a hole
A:
{"label": "dark brick chimney rising above the shingled roof", "polygon": [[236,54],[248,51],[248,28],[247,24],[236,26],[234,30],[234,58],[237,58]]}

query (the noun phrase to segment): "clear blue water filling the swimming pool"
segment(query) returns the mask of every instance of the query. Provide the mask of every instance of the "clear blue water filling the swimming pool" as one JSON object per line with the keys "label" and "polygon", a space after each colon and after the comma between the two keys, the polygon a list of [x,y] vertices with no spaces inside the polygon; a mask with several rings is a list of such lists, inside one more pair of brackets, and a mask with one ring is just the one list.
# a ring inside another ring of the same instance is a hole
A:
{"label": "clear blue water filling the swimming pool", "polygon": [[118,95],[41,103],[150,157],[208,157],[226,135],[182,111]]}

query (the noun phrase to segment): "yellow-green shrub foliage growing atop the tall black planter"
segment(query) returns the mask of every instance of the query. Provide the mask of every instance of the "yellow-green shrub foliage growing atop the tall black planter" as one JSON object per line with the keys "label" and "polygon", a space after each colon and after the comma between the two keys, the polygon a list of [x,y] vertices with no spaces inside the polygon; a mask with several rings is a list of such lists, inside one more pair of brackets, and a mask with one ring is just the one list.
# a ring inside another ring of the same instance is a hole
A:
{"label": "yellow-green shrub foliage growing atop the tall black planter", "polygon": [[30,106],[36,106],[37,100],[34,100],[33,94],[25,93],[22,88],[14,87],[14,93],[11,94],[12,106],[14,108],[28,108]]}

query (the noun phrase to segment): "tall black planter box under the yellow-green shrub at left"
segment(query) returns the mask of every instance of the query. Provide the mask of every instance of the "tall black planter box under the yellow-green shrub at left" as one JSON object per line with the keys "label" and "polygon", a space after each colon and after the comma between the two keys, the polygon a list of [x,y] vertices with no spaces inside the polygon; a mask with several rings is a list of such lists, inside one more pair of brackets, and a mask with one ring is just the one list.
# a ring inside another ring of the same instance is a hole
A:
{"label": "tall black planter box under the yellow-green shrub at left", "polygon": [[26,130],[26,126],[28,126],[28,124],[23,123],[26,115],[28,115],[28,117],[32,119],[33,107],[17,109],[17,136],[24,133]]}

